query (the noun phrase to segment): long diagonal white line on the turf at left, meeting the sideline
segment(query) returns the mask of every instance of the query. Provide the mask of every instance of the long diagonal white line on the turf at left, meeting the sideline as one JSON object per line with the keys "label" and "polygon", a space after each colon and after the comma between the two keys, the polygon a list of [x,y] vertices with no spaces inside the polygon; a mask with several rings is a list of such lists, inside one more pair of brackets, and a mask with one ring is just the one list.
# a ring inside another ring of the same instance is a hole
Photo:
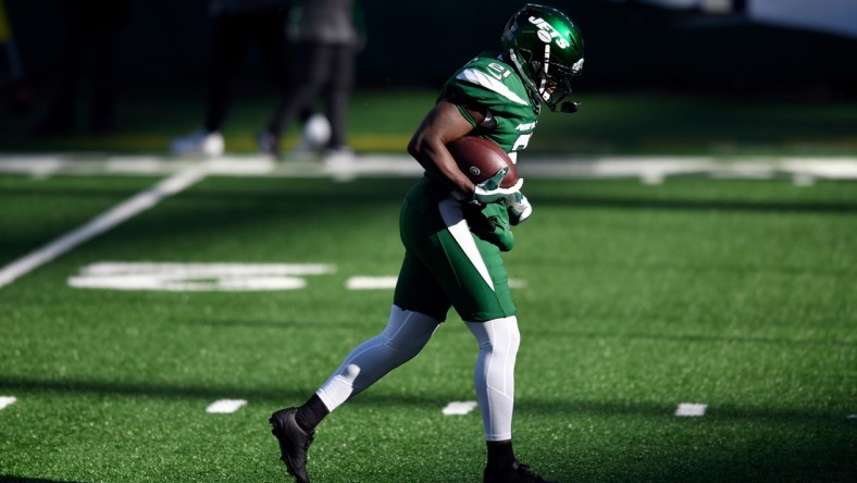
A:
{"label": "long diagonal white line on the turf at left, meeting the sideline", "polygon": [[127,201],[96,216],[85,225],[13,261],[0,270],[0,288],[11,284],[21,276],[36,270],[78,245],[113,228],[125,220],[148,210],[164,198],[186,189],[188,186],[206,177],[206,174],[207,171],[199,168],[176,173],[161,181],[153,187],[137,194]]}

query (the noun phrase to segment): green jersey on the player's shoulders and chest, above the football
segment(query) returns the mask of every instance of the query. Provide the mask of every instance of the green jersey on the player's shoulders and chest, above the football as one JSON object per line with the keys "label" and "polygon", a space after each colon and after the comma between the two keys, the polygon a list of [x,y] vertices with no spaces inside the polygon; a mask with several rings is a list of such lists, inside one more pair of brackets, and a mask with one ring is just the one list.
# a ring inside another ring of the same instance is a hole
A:
{"label": "green jersey on the player's shoulders and chest, above the football", "polygon": [[[475,134],[499,145],[516,162],[538,121],[521,77],[497,53],[483,52],[459,69],[440,89],[438,100],[443,99],[457,103]],[[489,120],[476,126],[464,106],[487,108]]]}

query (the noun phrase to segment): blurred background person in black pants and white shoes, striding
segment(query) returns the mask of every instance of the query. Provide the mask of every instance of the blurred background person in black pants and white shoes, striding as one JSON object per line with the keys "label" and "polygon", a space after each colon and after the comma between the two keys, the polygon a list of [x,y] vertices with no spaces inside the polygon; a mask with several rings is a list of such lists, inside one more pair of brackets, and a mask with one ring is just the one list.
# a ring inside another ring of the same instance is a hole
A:
{"label": "blurred background person in black pants and white shoes, striding", "polygon": [[[214,37],[203,123],[189,135],[173,139],[171,153],[223,154],[222,129],[234,98],[235,78],[252,44],[259,47],[277,89],[286,96],[294,69],[285,34],[287,5],[285,0],[212,0],[209,13],[214,20]],[[313,115],[311,102],[302,106],[296,115],[303,122],[307,133],[299,150],[327,140],[327,120],[322,114]]]}

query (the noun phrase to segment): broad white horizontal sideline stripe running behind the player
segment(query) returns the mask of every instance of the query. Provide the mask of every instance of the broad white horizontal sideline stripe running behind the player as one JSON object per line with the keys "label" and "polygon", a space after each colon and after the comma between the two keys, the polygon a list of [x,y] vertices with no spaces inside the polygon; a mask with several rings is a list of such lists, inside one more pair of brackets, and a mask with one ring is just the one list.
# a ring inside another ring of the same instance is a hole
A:
{"label": "broad white horizontal sideline stripe running behind the player", "polygon": [[[62,153],[0,154],[0,174],[35,178],[51,175],[169,176],[203,170],[211,176],[334,177],[419,176],[423,169],[408,156],[360,154],[353,163],[324,165],[316,161],[275,162],[262,156],[224,156],[185,159],[157,156],[72,156]],[[792,177],[798,184],[819,179],[857,179],[857,157],[532,157],[518,165],[531,178],[639,178],[659,183],[669,176],[703,175],[712,178]]]}

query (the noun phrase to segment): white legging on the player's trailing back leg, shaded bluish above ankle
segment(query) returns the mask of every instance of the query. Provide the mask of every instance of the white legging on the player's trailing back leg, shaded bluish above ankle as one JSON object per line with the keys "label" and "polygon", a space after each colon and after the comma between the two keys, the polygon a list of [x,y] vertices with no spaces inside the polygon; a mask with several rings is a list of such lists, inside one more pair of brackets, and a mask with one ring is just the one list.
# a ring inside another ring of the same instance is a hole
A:
{"label": "white legging on the player's trailing back leg, shaded bluish above ankle", "polygon": [[417,356],[440,321],[393,306],[384,332],[355,347],[315,394],[333,411]]}

